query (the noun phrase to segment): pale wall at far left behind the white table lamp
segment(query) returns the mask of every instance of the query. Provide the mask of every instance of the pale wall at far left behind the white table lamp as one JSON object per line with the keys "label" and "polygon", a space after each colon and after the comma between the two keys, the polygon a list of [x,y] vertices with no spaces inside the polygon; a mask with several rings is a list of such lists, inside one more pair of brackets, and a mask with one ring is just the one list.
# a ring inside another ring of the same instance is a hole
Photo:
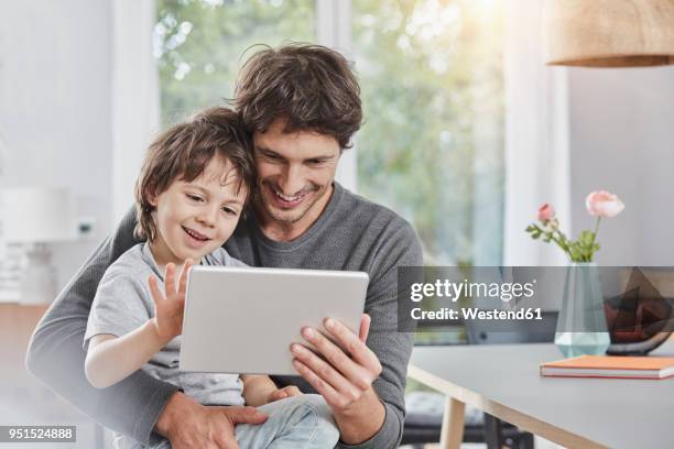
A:
{"label": "pale wall at far left behind the white table lamp", "polygon": [[0,3],[0,188],[69,187],[93,240],[55,245],[63,286],[109,230],[111,4]]}

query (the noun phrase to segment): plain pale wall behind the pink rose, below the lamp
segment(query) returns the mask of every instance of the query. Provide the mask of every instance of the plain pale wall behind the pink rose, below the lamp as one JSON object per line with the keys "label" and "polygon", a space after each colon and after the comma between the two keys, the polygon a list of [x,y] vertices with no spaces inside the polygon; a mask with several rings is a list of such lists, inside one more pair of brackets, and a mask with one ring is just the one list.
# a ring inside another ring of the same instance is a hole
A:
{"label": "plain pale wall behind the pink rose, below the lamp", "polygon": [[618,194],[602,265],[674,265],[674,67],[569,69],[574,234],[594,226],[585,196]]}

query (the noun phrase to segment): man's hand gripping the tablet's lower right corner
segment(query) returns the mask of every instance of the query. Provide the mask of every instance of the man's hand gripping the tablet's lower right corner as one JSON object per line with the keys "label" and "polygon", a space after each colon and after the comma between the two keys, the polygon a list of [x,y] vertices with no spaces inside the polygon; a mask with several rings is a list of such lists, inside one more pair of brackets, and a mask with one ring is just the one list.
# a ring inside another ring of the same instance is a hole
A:
{"label": "man's hand gripping the tablet's lower right corner", "polygon": [[306,327],[302,336],[323,358],[294,343],[291,346],[293,364],[333,409],[341,440],[359,443],[372,437],[385,418],[385,409],[372,388],[372,382],[381,374],[381,363],[366,346],[370,316],[362,316],[358,336],[330,318],[324,320],[324,326],[337,344],[318,330]]}

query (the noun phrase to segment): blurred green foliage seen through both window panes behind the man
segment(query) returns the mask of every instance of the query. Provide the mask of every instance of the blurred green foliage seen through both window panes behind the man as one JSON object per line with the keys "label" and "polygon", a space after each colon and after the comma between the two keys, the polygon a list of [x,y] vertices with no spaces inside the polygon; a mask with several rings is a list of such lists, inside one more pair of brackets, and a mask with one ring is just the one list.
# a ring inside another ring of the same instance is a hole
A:
{"label": "blurred green foliage seen through both window panes behind the man", "polygon": [[[311,0],[159,0],[162,119],[231,98],[246,48],[315,41]],[[426,264],[501,262],[501,0],[354,0],[358,189],[407,218]]]}

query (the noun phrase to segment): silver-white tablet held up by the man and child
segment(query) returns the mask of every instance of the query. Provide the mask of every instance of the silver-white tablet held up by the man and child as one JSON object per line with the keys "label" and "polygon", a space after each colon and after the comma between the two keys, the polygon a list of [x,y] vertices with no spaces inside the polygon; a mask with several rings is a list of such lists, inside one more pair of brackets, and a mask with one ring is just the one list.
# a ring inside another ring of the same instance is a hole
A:
{"label": "silver-white tablet held up by the man and child", "polygon": [[195,266],[181,338],[183,371],[296,375],[290,346],[335,318],[358,332],[368,288],[361,272]]}

